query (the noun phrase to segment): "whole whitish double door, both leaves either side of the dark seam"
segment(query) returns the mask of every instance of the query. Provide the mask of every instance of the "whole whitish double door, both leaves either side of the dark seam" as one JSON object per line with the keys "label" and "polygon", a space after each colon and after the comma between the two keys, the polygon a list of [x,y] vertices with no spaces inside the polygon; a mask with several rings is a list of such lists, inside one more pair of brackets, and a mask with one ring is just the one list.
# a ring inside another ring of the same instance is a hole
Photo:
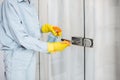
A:
{"label": "whole whitish double door, both leaves either side of the dark seam", "polygon": [[41,80],[120,80],[120,0],[40,1],[45,3],[42,23],[60,26],[65,39],[94,41],[93,48],[72,45],[62,53],[42,55]]}

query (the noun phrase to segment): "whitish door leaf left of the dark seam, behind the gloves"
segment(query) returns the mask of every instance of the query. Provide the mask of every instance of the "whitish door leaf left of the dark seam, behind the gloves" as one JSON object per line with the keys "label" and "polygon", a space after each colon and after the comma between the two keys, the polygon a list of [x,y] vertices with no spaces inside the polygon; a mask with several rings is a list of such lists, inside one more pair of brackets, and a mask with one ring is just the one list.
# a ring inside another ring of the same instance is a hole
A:
{"label": "whitish door leaf left of the dark seam, behind the gloves", "polygon": [[[84,37],[84,0],[40,0],[41,24],[60,26],[62,38]],[[40,80],[84,80],[85,48],[72,45],[61,53],[40,54]]]}

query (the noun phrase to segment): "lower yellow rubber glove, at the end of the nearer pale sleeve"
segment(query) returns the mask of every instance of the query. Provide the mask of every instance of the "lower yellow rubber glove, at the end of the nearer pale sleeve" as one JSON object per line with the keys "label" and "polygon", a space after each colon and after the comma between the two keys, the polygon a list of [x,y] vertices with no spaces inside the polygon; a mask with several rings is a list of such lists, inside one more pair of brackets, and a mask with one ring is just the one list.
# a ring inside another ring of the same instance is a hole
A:
{"label": "lower yellow rubber glove, at the end of the nearer pale sleeve", "polygon": [[48,52],[53,53],[63,51],[68,46],[70,46],[70,42],[68,41],[48,43]]}

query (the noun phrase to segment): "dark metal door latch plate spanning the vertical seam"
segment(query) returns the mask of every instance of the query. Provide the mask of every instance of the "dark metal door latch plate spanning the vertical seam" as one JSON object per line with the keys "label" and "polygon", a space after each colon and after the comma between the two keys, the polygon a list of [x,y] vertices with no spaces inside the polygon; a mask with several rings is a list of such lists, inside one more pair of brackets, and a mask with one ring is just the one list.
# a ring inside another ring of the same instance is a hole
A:
{"label": "dark metal door latch plate spanning the vertical seam", "polygon": [[93,47],[93,39],[83,38],[83,37],[72,37],[71,42],[73,45],[83,46],[83,47]]}

